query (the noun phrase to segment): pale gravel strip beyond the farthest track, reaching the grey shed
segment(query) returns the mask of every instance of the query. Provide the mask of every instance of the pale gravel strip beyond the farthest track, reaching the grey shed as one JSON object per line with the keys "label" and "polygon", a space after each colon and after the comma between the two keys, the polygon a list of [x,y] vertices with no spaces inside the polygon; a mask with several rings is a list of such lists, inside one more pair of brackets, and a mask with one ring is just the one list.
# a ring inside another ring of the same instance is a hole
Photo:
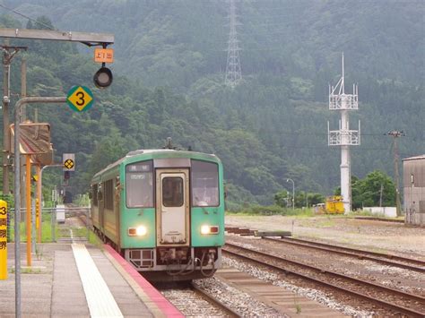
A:
{"label": "pale gravel strip beyond the farthest track, reaching the grey shed", "polygon": [[260,230],[287,230],[293,236],[334,242],[370,251],[402,254],[425,261],[425,228],[402,223],[320,216],[226,216],[226,226]]}

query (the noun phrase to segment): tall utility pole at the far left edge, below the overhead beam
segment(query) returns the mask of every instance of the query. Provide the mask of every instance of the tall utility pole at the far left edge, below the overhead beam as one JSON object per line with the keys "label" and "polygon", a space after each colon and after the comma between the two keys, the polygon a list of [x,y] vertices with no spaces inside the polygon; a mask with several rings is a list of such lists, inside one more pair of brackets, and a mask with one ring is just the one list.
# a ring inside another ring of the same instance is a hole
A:
{"label": "tall utility pole at the far left edge, below the overhead beam", "polygon": [[10,47],[9,40],[4,40],[3,50],[3,194],[9,194],[9,157],[10,157],[10,133],[9,133],[9,104],[10,94],[10,71],[13,56],[21,49],[27,47]]}

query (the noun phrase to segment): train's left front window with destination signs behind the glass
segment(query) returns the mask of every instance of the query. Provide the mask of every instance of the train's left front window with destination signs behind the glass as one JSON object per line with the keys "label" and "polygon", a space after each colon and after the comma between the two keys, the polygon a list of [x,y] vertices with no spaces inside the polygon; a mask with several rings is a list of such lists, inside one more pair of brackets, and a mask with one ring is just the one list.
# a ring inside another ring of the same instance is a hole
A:
{"label": "train's left front window with destination signs behind the glass", "polygon": [[126,206],[153,207],[152,160],[126,166]]}

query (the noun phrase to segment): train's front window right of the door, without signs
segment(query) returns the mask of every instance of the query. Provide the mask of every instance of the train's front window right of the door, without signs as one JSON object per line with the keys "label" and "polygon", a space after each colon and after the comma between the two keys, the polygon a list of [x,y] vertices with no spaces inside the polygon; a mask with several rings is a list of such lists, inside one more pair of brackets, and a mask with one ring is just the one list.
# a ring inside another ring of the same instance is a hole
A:
{"label": "train's front window right of the door, without signs", "polygon": [[219,168],[212,162],[192,160],[192,205],[219,205]]}

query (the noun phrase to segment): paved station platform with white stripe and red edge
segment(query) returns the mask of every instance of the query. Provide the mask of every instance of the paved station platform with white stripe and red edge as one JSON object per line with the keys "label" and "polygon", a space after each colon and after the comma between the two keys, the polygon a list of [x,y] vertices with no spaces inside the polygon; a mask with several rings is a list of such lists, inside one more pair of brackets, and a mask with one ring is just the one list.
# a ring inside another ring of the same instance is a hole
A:
{"label": "paved station platform with white stripe and red edge", "polygon": [[[7,250],[2,318],[15,316],[13,244]],[[21,260],[22,317],[183,317],[108,245],[38,244],[26,267],[22,244]]]}

